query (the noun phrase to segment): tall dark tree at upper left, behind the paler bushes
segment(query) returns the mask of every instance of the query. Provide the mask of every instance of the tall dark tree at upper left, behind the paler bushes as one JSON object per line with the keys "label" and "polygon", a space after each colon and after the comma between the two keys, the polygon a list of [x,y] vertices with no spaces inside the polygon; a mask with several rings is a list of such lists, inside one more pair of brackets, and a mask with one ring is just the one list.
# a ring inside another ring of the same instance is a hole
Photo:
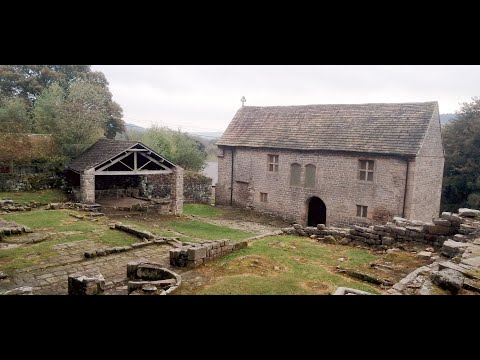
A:
{"label": "tall dark tree at upper left, behind the paler bushes", "polygon": [[[79,81],[102,89],[108,99],[106,105],[104,104],[109,115],[108,121],[103,124],[103,134],[113,139],[116,133],[125,131],[122,108],[112,100],[105,75],[92,71],[90,65],[0,65],[0,101],[23,98],[30,108],[33,108],[43,91],[53,84],[57,84],[64,94],[68,94],[72,84]],[[56,89],[55,92],[58,94],[59,90]]]}

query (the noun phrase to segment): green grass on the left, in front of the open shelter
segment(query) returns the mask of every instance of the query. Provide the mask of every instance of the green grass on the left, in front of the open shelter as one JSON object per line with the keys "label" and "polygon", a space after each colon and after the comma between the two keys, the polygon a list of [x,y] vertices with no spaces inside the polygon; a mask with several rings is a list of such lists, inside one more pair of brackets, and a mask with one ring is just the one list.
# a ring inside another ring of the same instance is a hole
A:
{"label": "green grass on the left, in front of the open shelter", "polygon": [[[69,213],[85,215],[84,212],[74,210],[35,210],[2,215],[5,220],[28,226],[34,230],[34,233],[53,233],[54,235],[38,244],[0,250],[0,271],[11,272],[13,269],[29,267],[46,261],[51,256],[59,255],[54,246],[62,243],[90,240],[98,243],[98,247],[112,247],[130,245],[139,241],[127,233],[110,230],[108,224],[115,221],[134,225],[138,229],[148,230],[157,235],[175,236],[182,241],[191,242],[218,239],[235,241],[254,235],[245,231],[175,216],[160,217],[155,220],[99,217],[92,221],[76,219]],[[21,239],[28,236],[27,234],[15,238]],[[9,237],[7,241],[11,241],[11,239]]]}

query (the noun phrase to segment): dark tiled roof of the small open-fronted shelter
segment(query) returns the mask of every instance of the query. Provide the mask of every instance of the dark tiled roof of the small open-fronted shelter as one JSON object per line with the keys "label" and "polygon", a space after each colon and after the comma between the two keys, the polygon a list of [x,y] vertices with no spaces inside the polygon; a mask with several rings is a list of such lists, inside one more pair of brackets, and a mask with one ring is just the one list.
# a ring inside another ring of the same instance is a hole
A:
{"label": "dark tiled roof of the small open-fronted shelter", "polygon": [[[121,154],[125,150],[130,149],[137,144],[140,144],[141,146],[151,150],[139,141],[100,139],[87,150],[85,150],[83,154],[72,160],[72,162],[68,165],[68,168],[76,172],[83,172],[84,170],[104,163],[105,161]],[[151,151],[155,153],[155,151]],[[176,166],[167,160],[166,163],[171,166]]]}

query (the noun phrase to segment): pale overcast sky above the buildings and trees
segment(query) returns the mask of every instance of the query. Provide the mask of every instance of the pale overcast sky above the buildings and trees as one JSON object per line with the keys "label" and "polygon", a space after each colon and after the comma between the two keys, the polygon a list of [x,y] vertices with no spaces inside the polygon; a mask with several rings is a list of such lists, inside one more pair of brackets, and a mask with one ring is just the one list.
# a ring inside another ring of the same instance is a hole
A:
{"label": "pale overcast sky above the buildings and trees", "polygon": [[438,101],[480,96],[478,65],[93,65],[127,123],[224,131],[241,106]]}

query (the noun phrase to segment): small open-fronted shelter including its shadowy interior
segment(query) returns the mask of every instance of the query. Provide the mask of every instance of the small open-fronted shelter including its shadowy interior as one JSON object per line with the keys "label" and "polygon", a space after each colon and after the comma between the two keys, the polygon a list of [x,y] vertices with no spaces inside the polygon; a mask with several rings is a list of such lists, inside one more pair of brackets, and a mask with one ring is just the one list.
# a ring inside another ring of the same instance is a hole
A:
{"label": "small open-fronted shelter including its shadowy interior", "polygon": [[[142,181],[167,182],[170,211],[183,211],[183,169],[138,141],[100,139],[67,167],[67,179],[77,200],[94,203],[96,196],[115,190],[128,191]],[[158,186],[158,184],[157,184]]]}

